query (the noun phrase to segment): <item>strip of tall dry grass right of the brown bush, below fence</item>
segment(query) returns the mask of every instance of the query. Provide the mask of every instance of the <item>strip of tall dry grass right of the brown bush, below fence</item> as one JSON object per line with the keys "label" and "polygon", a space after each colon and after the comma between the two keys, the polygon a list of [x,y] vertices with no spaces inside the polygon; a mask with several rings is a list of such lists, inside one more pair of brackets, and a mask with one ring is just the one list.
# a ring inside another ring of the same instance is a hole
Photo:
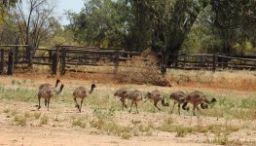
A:
{"label": "strip of tall dry grass right of the brown bush, below fence", "polygon": [[185,71],[168,70],[165,76],[169,82],[177,85],[201,85],[202,87],[232,89],[238,91],[256,90],[256,73],[254,71]]}

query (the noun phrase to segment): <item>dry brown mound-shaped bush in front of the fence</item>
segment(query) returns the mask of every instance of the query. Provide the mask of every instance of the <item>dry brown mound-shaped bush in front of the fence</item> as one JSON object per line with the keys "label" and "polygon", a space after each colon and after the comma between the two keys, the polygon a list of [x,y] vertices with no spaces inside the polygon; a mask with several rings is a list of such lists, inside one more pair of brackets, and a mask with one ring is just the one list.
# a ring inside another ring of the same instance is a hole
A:
{"label": "dry brown mound-shaped bush in front of the fence", "polygon": [[122,83],[152,84],[168,86],[165,76],[161,74],[159,60],[152,51],[145,50],[140,56],[133,56],[121,63],[115,76]]}

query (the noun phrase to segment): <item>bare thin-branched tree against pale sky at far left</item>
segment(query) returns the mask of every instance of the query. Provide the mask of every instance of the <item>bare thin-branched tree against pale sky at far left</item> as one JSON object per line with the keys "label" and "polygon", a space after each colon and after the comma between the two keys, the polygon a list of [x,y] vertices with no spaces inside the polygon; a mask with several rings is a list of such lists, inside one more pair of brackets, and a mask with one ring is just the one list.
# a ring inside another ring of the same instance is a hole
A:
{"label": "bare thin-branched tree against pale sky at far left", "polygon": [[18,2],[17,8],[13,11],[14,23],[18,27],[21,42],[38,48],[40,42],[52,31],[55,5],[50,4],[48,0],[27,0],[26,2],[28,9],[22,2]]}

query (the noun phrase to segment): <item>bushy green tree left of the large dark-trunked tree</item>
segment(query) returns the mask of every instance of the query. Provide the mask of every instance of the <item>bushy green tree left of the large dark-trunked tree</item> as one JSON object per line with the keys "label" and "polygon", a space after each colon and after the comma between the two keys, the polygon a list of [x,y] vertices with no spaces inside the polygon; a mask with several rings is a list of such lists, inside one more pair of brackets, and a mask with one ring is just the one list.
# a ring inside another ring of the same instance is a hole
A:
{"label": "bushy green tree left of the large dark-trunked tree", "polygon": [[67,28],[83,45],[132,48],[129,9],[125,0],[91,0],[79,14],[67,12],[71,22]]}

